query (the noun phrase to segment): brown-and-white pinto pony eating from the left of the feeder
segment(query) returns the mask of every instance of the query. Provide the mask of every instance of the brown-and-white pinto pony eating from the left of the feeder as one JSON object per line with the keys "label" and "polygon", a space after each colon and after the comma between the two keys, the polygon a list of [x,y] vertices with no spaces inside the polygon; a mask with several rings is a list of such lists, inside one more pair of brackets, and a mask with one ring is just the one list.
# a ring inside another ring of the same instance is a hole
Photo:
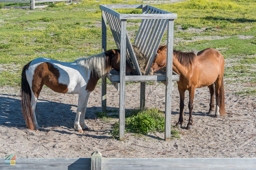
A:
{"label": "brown-and-white pinto pony eating from the left of the feeder", "polygon": [[[88,130],[84,123],[87,102],[100,77],[112,68],[120,69],[120,50],[82,58],[74,62],[61,62],[37,58],[23,67],[21,74],[21,111],[29,129],[39,131],[36,121],[36,102],[43,85],[55,92],[78,94],[75,130]],[[126,61],[126,74],[134,74]],[[81,116],[81,117],[80,117]]]}

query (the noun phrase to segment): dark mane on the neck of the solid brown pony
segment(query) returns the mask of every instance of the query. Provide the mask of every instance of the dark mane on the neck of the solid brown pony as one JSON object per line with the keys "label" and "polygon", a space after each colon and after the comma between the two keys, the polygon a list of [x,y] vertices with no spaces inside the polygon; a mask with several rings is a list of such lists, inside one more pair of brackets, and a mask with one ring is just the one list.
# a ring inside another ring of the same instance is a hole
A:
{"label": "dark mane on the neck of the solid brown pony", "polygon": [[187,68],[189,68],[196,57],[194,52],[182,52],[177,50],[173,50],[173,55],[179,60],[181,65]]}

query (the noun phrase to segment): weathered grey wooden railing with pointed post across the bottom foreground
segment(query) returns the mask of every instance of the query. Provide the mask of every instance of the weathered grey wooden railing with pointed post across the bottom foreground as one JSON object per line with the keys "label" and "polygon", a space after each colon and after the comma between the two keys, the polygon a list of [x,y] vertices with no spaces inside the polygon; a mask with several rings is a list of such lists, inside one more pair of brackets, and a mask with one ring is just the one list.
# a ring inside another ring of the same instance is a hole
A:
{"label": "weathered grey wooden railing with pointed post across the bottom foreground", "polygon": [[[18,159],[23,160],[18,161]],[[28,161],[30,160],[30,161]],[[42,161],[44,160],[44,161]],[[47,160],[47,161],[46,161]],[[16,158],[15,165],[5,165],[0,158],[1,170],[158,170],[158,169],[256,169],[256,158],[102,158],[95,151],[92,158]]]}

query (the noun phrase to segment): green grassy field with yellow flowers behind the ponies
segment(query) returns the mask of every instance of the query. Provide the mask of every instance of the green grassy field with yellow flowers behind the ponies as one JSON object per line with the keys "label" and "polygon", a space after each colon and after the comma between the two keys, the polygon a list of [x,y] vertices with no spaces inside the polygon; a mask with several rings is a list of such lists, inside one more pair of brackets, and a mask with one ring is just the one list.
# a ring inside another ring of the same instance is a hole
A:
{"label": "green grassy field with yellow flowers behind the ponies", "polygon": [[[156,1],[157,3],[158,1]],[[141,1],[140,3],[143,3]],[[21,68],[37,57],[73,61],[101,52],[99,4],[138,4],[136,1],[57,3],[44,9],[0,9],[0,86],[18,87]],[[256,83],[256,2],[254,0],[190,0],[152,4],[178,14],[174,48],[200,51],[213,47],[226,59],[227,83]],[[139,10],[119,10],[138,13]],[[128,20],[136,32],[140,20]],[[209,37],[217,37],[209,39]],[[134,37],[134,35],[133,35]],[[166,35],[164,36],[166,39]],[[163,44],[164,44],[163,40]],[[108,49],[116,48],[108,29]],[[249,78],[248,78],[249,77]],[[255,94],[253,87],[239,94]]]}

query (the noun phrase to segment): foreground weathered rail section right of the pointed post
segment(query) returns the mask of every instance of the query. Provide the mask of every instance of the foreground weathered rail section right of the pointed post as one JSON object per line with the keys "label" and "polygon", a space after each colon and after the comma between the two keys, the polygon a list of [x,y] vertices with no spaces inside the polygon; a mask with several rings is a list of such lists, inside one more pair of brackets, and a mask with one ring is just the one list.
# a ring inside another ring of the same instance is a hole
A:
{"label": "foreground weathered rail section right of the pointed post", "polygon": [[255,162],[256,158],[102,158],[104,170],[256,169]]}

